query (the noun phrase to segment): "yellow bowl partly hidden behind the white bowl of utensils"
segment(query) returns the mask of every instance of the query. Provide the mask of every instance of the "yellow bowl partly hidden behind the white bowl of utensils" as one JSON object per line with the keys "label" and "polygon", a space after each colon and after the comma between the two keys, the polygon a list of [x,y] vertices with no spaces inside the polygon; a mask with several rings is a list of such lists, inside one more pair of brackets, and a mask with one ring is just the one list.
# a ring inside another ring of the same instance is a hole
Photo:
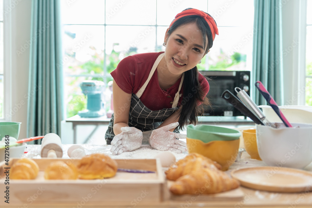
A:
{"label": "yellow bowl partly hidden behind the white bowl of utensils", "polygon": [[261,160],[258,153],[257,137],[255,129],[242,130],[246,152],[252,159]]}

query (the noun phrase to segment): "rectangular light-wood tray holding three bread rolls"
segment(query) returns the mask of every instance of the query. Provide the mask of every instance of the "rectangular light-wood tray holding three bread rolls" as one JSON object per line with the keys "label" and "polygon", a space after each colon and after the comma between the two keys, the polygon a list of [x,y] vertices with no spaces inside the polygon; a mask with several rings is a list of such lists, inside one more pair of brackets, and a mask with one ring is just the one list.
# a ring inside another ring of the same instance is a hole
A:
{"label": "rectangular light-wood tray holding three bread rolls", "polygon": [[[46,180],[45,168],[53,161],[61,160],[77,164],[79,159],[43,158],[34,159],[40,171],[34,180],[9,180],[5,185],[4,163],[0,166],[0,190],[9,186],[11,204],[103,204],[119,202],[133,206],[135,201],[163,201],[165,177],[159,159],[115,159],[118,168],[141,169],[155,173],[117,172],[115,177],[95,180]],[[10,159],[10,165],[17,158]],[[9,167],[9,166],[5,166]],[[2,200],[2,203],[4,200]],[[131,204],[132,203],[132,204]],[[5,203],[6,204],[6,203]]]}

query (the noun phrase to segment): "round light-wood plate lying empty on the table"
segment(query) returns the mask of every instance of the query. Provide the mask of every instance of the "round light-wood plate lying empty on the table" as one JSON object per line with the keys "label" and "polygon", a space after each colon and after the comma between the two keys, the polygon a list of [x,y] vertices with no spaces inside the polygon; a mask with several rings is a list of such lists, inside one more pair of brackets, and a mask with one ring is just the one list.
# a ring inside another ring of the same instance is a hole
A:
{"label": "round light-wood plate lying empty on the table", "polygon": [[295,168],[251,167],[231,172],[242,186],[263,191],[301,192],[312,190],[312,173]]}

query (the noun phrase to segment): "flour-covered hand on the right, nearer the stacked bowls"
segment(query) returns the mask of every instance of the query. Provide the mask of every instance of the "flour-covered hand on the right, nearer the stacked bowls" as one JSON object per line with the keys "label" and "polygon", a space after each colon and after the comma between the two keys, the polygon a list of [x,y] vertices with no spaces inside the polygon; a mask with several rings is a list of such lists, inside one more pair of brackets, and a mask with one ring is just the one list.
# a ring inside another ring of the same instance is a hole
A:
{"label": "flour-covered hand on the right, nearer the stacked bowls", "polygon": [[[175,122],[159,129],[152,131],[149,137],[149,144],[158,150],[167,151],[170,150],[175,153],[186,152],[186,143],[178,139],[185,139],[185,134],[173,133],[169,131],[179,125],[179,122]],[[178,138],[178,139],[176,139]]]}

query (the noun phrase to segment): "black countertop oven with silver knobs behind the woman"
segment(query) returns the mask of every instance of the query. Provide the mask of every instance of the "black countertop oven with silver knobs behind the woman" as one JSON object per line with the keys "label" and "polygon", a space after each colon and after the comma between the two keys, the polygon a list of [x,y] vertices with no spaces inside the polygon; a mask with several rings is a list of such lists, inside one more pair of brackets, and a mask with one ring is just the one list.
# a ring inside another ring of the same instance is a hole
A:
{"label": "black countertop oven with silver knobs behind the woman", "polygon": [[210,106],[204,106],[203,116],[245,116],[221,95],[225,90],[229,90],[236,96],[234,88],[239,87],[250,96],[250,71],[199,71],[199,73],[208,78],[209,83],[207,98]]}

